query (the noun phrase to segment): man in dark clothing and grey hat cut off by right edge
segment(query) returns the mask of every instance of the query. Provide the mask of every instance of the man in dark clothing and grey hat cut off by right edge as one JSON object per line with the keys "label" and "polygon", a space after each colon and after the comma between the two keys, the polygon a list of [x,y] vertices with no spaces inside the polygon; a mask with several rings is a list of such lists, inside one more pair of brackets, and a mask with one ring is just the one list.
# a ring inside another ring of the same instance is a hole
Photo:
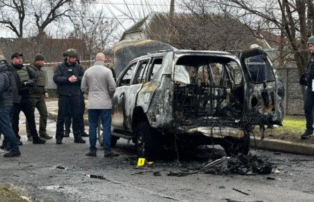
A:
{"label": "man in dark clothing and grey hat cut off by right edge", "polygon": [[306,86],[304,98],[304,114],[306,116],[306,131],[301,134],[301,139],[313,136],[313,105],[314,105],[314,36],[308,38],[308,50],[311,59],[306,66],[305,77],[301,77],[300,83]]}

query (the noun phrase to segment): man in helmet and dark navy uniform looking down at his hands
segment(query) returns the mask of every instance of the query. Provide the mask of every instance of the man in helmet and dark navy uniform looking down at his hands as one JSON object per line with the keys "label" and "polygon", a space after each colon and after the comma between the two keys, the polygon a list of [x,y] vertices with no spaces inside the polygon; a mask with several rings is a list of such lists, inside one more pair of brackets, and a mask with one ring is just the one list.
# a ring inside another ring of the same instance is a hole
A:
{"label": "man in helmet and dark navy uniform looking down at his hands", "polygon": [[77,110],[80,109],[80,86],[84,68],[77,63],[77,51],[75,49],[67,49],[63,56],[66,59],[54,71],[54,83],[57,84],[57,94],[59,95],[56,143],[62,143],[64,118],[68,110],[70,110],[73,119],[74,142],[85,143],[80,133],[79,110]]}

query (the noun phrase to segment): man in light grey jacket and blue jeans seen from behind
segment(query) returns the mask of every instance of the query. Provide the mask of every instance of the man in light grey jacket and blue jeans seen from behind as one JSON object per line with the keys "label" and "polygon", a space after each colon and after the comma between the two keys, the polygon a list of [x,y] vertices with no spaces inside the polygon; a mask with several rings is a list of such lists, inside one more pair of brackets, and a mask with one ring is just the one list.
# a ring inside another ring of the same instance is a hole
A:
{"label": "man in light grey jacket and blue jeans seen from behind", "polygon": [[119,154],[111,150],[111,109],[112,96],[116,90],[116,84],[112,76],[112,71],[105,68],[105,54],[98,53],[94,66],[89,68],[82,79],[82,91],[88,91],[89,110],[89,153],[87,156],[96,156],[97,125],[99,116],[103,121],[103,145],[105,149],[104,157],[114,157]]}

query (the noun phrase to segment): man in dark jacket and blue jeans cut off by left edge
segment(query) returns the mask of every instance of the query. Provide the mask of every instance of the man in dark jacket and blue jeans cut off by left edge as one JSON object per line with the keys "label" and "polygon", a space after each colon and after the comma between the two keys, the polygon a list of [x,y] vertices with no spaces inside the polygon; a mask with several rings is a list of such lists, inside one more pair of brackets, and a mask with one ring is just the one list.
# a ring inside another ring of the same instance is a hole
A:
{"label": "man in dark jacket and blue jeans cut off by left edge", "polygon": [[20,149],[17,145],[17,138],[10,125],[10,111],[13,106],[12,86],[14,81],[10,79],[6,58],[0,56],[0,133],[10,141],[10,152],[4,154],[4,157],[20,156]]}

